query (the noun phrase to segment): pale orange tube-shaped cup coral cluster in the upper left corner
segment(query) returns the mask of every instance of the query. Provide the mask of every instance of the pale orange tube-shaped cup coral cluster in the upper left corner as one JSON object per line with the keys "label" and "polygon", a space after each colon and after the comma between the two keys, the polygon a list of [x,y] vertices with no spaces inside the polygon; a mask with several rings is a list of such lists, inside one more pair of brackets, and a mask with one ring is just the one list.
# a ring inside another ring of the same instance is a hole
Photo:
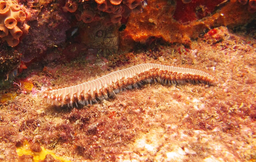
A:
{"label": "pale orange tube-shaped cup coral cluster in the upper left corner", "polygon": [[25,20],[29,19],[30,13],[25,7],[21,7],[16,1],[0,1],[0,38],[9,46],[17,46],[19,38],[28,34],[29,25]]}

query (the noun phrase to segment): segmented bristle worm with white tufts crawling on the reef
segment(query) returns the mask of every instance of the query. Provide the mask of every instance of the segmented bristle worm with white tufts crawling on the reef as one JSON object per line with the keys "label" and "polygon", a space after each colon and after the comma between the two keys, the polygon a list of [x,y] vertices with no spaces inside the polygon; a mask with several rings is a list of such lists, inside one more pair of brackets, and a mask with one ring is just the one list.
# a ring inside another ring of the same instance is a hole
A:
{"label": "segmented bristle worm with white tufts crawling on the reef", "polygon": [[73,103],[76,107],[77,102],[83,105],[98,103],[96,98],[107,99],[108,95],[113,96],[122,90],[137,88],[142,82],[160,82],[167,85],[190,82],[213,85],[215,78],[201,70],[143,63],[76,86],[46,91],[42,98],[46,98],[47,103],[62,106],[67,104],[73,108]]}

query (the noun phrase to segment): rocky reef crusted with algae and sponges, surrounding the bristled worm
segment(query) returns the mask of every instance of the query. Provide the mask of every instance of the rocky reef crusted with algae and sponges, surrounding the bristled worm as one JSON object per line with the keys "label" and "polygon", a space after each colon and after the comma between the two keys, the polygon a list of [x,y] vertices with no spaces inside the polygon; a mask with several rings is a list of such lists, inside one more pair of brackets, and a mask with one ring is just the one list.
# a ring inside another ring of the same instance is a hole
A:
{"label": "rocky reef crusted with algae and sponges, surrounding the bristled worm", "polygon": [[[255,161],[255,1],[13,2],[31,17],[17,46],[0,43],[1,81],[14,81],[0,89],[0,161]],[[42,99],[149,62],[216,84],[142,83],[76,108]]]}

